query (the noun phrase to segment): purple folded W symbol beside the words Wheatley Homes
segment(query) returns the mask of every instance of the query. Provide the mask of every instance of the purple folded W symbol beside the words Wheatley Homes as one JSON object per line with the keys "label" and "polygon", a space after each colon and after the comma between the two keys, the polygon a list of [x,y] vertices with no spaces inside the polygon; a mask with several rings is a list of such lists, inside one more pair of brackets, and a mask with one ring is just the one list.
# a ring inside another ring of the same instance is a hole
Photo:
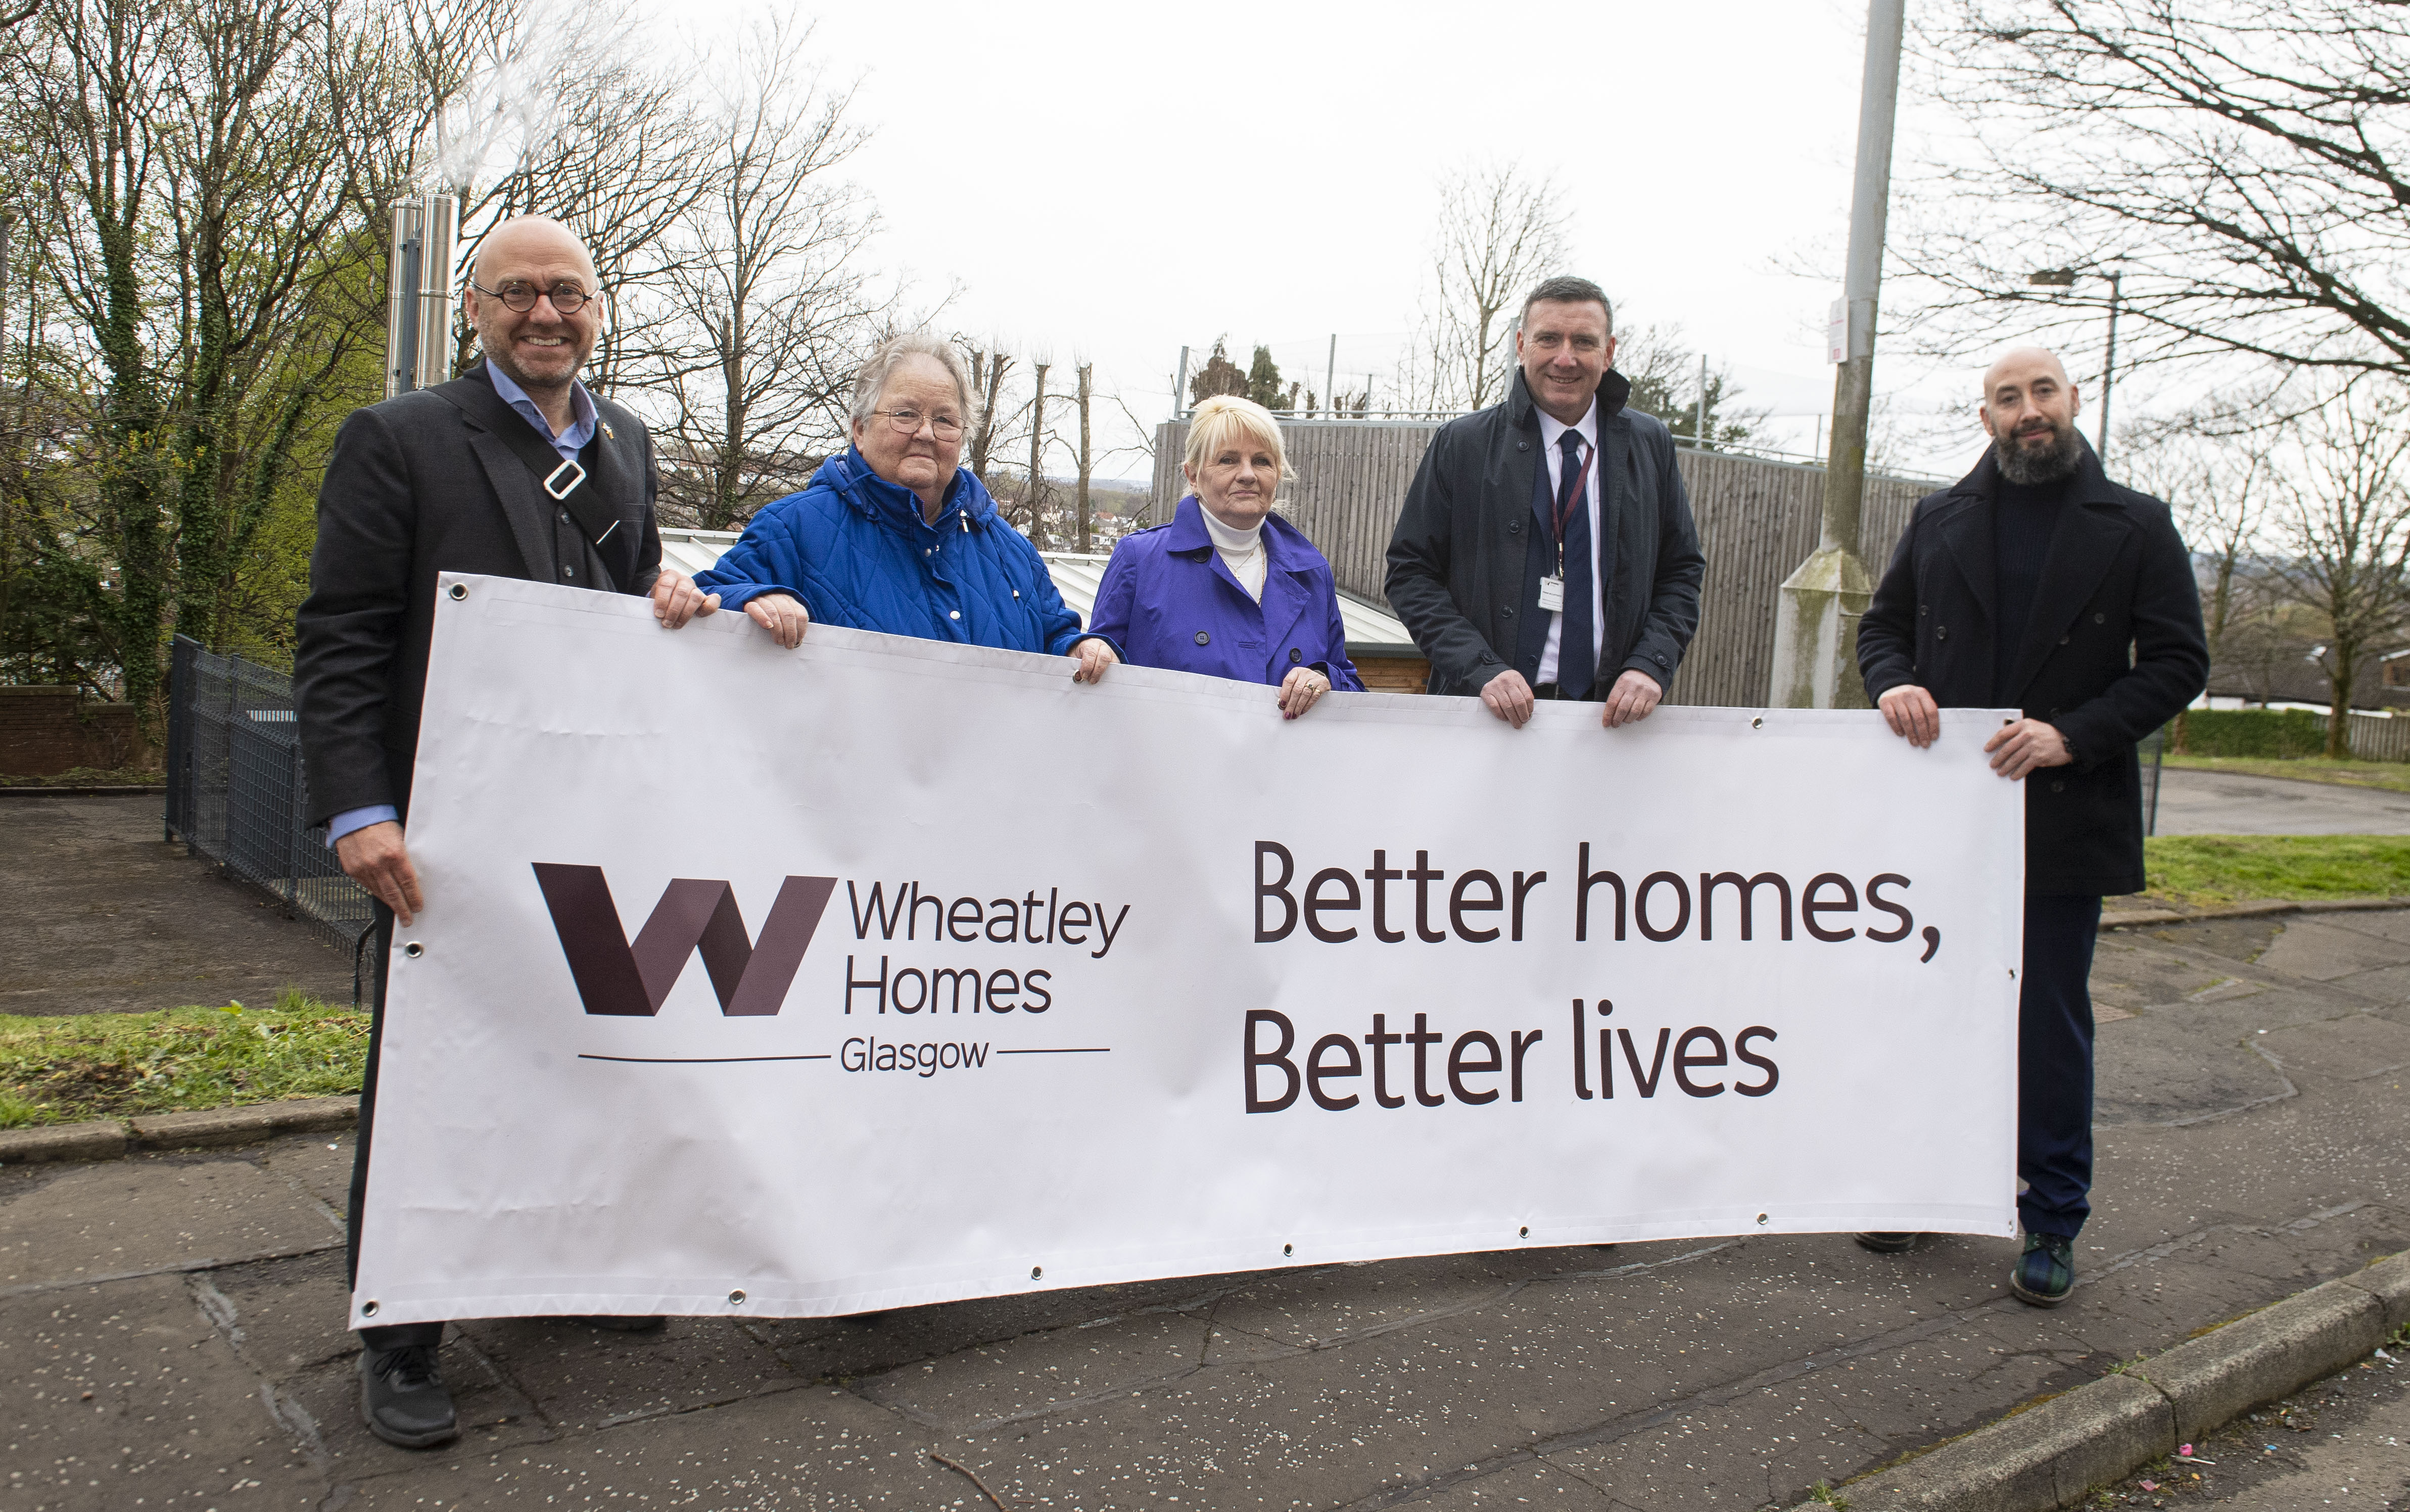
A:
{"label": "purple folded W symbol beside the words Wheatley Homes", "polygon": [[701,953],[721,1013],[747,1018],[778,1013],[836,878],[786,878],[759,940],[745,933],[745,914],[728,883],[675,878],[634,940],[619,924],[600,866],[535,861],[535,885],[545,890],[586,1013],[653,1018],[687,969],[687,957]]}

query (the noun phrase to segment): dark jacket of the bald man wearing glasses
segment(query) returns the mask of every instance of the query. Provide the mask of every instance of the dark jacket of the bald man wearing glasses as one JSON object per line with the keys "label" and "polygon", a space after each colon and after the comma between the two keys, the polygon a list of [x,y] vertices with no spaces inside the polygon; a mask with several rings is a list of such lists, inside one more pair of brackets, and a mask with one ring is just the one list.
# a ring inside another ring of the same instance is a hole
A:
{"label": "dark jacket of the bald man wearing glasses", "polygon": [[313,825],[374,803],[410,808],[439,572],[651,593],[660,576],[653,436],[622,405],[595,398],[595,410],[610,434],[595,434],[583,487],[600,490],[634,538],[634,552],[605,543],[617,572],[501,441],[504,427],[535,427],[494,393],[484,364],[342,422],[318,487],[294,649]]}

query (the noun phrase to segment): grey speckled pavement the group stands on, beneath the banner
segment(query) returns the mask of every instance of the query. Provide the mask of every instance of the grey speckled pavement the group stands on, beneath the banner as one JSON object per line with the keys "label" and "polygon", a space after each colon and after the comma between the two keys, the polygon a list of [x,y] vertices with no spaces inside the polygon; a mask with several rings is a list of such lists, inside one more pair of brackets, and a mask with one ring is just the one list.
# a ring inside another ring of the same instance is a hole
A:
{"label": "grey speckled pavement the group stands on, beneath the banner", "polygon": [[1791,1507],[2410,1249],[2410,912],[2109,936],[2097,991],[2102,1208],[2056,1312],[2000,1240],[1740,1237],[477,1321],[434,1454],[354,1411],[347,1141],[0,1170],[0,1512],[983,1507],[928,1449],[1089,1512]]}

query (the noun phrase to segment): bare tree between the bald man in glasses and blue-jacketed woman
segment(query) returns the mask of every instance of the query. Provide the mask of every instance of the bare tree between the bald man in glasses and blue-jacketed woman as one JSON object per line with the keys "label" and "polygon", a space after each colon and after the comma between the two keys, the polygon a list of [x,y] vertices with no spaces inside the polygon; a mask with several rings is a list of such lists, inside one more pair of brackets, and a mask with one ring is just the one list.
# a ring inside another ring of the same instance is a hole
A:
{"label": "bare tree between the bald man in glasses and blue-jacketed woman", "polygon": [[[844,449],[846,388],[877,311],[860,268],[872,215],[834,171],[863,142],[851,92],[803,58],[810,29],[774,22],[709,72],[711,193],[668,272],[656,386],[675,408],[663,487],[706,531],[752,518]],[[675,482],[672,482],[675,477]]]}

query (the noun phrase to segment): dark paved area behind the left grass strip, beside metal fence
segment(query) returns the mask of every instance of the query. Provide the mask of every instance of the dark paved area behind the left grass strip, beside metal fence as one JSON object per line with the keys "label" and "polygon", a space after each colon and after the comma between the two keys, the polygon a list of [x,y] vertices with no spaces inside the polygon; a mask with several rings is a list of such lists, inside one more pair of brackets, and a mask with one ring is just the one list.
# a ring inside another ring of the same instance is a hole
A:
{"label": "dark paved area behind the left grass strip, beside metal fence", "polygon": [[159,798],[0,798],[0,1013],[352,1001],[352,957],[161,842]]}

